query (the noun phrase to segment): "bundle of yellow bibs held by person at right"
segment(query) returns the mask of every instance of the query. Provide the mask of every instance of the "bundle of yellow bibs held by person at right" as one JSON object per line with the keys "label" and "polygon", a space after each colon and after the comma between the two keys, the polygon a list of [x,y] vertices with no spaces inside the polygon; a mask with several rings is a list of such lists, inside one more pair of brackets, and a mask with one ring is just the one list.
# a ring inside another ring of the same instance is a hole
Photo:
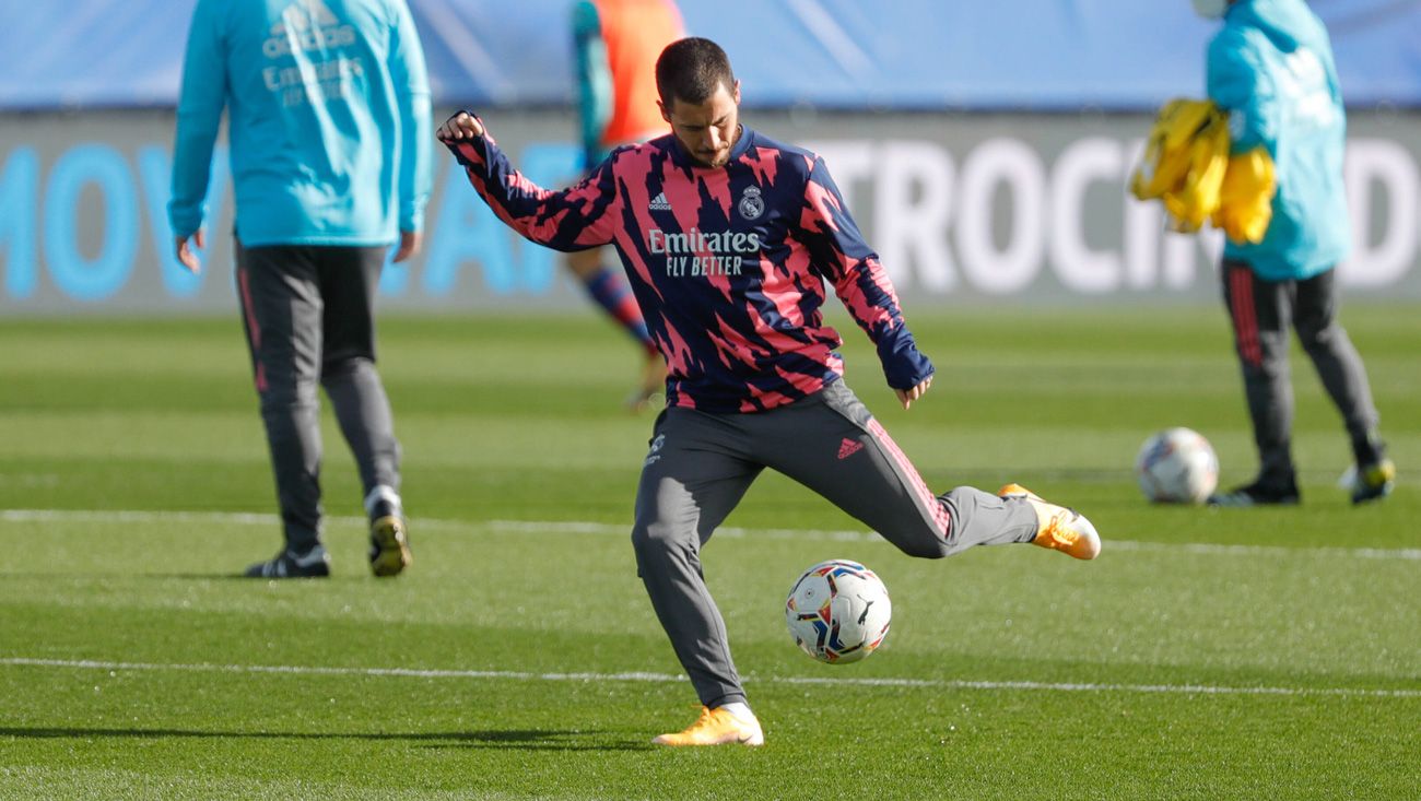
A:
{"label": "bundle of yellow bibs held by person at right", "polygon": [[1233,241],[1258,243],[1273,217],[1273,159],[1255,148],[1229,156],[1229,118],[1212,101],[1174,99],[1160,109],[1130,193],[1158,197],[1169,227],[1192,233],[1205,222]]}

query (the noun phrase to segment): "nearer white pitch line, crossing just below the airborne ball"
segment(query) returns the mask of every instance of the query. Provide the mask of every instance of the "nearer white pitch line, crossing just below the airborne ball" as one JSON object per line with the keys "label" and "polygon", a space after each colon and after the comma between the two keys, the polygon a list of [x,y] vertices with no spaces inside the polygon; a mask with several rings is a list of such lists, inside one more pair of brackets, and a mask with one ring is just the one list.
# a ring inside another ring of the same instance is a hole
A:
{"label": "nearer white pitch line, crossing just below the airborne ball", "polygon": [[[652,682],[679,683],[685,676],[671,673],[536,673],[530,670],[433,670],[415,668],[321,668],[304,665],[217,665],[102,662],[94,659],[0,658],[0,665],[14,668],[65,668],[75,670],[145,670],[196,673],[281,673],[291,676],[396,676],[414,679],[504,679],[520,682]],[[1366,687],[1226,687],[1215,685],[1111,685],[1090,682],[988,682],[968,679],[894,679],[894,677],[814,677],[747,676],[747,683],[824,685],[854,687],[914,687],[951,690],[1044,690],[1061,693],[1161,693],[1185,696],[1356,696],[1381,699],[1421,699],[1421,690],[1383,690]]]}

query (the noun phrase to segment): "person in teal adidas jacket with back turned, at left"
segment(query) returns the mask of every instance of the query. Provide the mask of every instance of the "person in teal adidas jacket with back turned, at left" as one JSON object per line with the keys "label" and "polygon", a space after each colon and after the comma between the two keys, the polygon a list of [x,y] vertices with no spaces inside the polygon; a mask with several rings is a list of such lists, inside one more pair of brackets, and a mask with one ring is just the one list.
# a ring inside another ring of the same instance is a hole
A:
{"label": "person in teal adidas jacket with back turned, at left", "polygon": [[405,0],[198,0],[168,206],[178,260],[192,271],[223,109],[236,285],[286,538],[246,575],[330,574],[317,385],[360,467],[371,570],[395,575],[411,554],[374,300],[391,244],[395,261],[419,250],[432,139]]}

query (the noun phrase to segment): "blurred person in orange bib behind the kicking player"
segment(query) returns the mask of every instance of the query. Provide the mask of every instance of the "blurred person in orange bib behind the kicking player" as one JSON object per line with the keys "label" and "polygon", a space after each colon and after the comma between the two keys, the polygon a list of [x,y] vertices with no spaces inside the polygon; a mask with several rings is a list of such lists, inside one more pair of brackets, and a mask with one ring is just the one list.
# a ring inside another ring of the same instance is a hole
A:
{"label": "blurred person in orange bib behind the kicking player", "polygon": [[[618,145],[666,132],[657,109],[654,71],[661,50],[684,36],[672,0],[578,0],[573,6],[584,175]],[[605,257],[607,249],[580,250],[568,253],[564,263],[587,295],[641,344],[641,381],[627,398],[630,409],[641,410],[665,389],[666,362],[647,332],[621,267]]]}

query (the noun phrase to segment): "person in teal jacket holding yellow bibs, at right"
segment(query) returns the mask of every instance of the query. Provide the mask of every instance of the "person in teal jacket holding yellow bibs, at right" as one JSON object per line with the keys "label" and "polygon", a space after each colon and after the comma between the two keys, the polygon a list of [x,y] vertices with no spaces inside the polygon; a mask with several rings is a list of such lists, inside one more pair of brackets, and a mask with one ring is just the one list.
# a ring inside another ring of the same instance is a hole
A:
{"label": "person in teal jacket holding yellow bibs, at right", "polygon": [[1300,500],[1292,456],[1292,324],[1341,413],[1356,460],[1353,503],[1387,496],[1395,466],[1361,356],[1337,322],[1336,266],[1351,247],[1343,187],[1347,121],[1327,30],[1303,0],[1192,0],[1223,27],[1208,48],[1208,95],[1229,115],[1233,155],[1273,162],[1272,222],[1258,243],[1229,240],[1221,268],[1260,469],[1216,506]]}

